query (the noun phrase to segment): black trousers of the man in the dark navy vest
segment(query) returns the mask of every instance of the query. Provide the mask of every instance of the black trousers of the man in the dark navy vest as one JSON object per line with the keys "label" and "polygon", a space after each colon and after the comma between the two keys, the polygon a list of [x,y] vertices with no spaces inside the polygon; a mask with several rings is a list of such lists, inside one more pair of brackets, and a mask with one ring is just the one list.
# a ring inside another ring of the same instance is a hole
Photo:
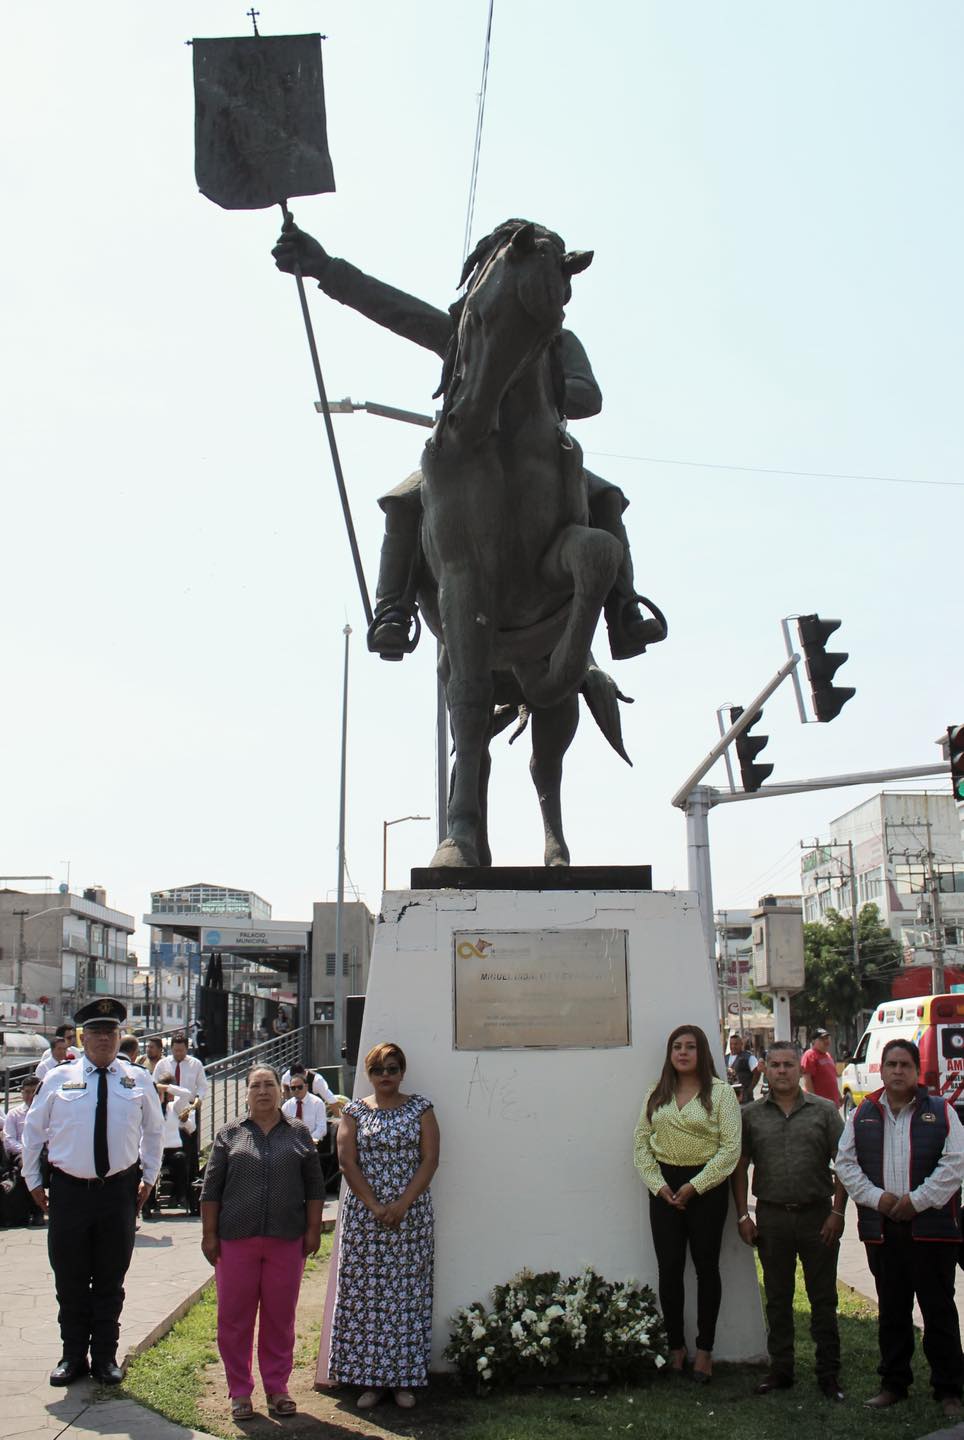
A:
{"label": "black trousers of the man in the dark navy vest", "polygon": [[957,1244],[912,1240],[911,1225],[883,1221],[883,1244],[867,1246],[867,1264],[878,1287],[878,1374],[886,1390],[906,1395],[914,1372],[914,1296],[924,1316],[924,1354],[938,1400],[961,1395],[964,1356],[954,1303]]}

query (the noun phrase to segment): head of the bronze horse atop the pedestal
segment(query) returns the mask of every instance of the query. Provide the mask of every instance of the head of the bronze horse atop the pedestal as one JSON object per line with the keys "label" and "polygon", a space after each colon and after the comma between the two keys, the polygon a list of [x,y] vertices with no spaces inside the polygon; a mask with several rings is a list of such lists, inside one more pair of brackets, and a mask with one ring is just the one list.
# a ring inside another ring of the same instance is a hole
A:
{"label": "head of the bronze horse atop the pedestal", "polygon": [[559,334],[571,278],[591,261],[592,251],[566,252],[552,230],[522,220],[500,226],[473,252],[442,379],[439,439],[448,431],[476,446],[499,428],[503,396]]}

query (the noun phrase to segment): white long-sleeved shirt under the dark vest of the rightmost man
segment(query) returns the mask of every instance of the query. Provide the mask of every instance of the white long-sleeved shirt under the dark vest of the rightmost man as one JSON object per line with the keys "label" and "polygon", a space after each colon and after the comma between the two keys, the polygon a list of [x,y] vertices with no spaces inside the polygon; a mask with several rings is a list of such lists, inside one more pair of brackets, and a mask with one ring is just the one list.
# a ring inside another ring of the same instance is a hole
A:
{"label": "white long-sleeved shirt under the dark vest of the rightmost man", "polygon": [[[857,1165],[857,1148],[853,1139],[853,1120],[856,1110],[847,1117],[837,1145],[834,1169],[840,1184],[846,1189],[854,1205],[867,1205],[876,1210],[883,1191],[892,1195],[911,1195],[911,1204],[918,1214],[922,1210],[941,1210],[951,1195],[955,1195],[964,1179],[964,1128],[958,1120],[954,1106],[948,1106],[948,1129],[944,1140],[944,1153],[927,1179],[909,1189],[911,1185],[911,1117],[914,1103],[905,1104],[895,1115],[888,1103],[886,1090],[879,1096],[883,1110],[883,1189],[875,1185]],[[937,1122],[941,1123],[940,1119]]]}

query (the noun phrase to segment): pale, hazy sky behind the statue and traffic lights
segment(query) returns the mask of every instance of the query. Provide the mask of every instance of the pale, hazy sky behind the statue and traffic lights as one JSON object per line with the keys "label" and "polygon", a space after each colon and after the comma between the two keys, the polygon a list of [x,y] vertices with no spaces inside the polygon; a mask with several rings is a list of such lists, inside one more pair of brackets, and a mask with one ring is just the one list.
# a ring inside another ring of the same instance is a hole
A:
{"label": "pale, hazy sky behind the statue and traffic lights", "polygon": [[[297,220],[448,304],[487,0],[259,9],[264,33],[329,36],[337,193]],[[285,919],[333,896],[346,621],[347,861],[373,909],[383,819],[435,811],[434,645],[365,649],[280,215],[195,184],[184,40],[248,33],[244,12],[3,13],[0,868],[62,880],[69,857],[73,888],[138,916],[195,880]],[[963,46],[958,0],[496,0],[474,233],[525,215],[595,251],[568,324],[605,405],[578,436],[630,497],[638,585],[670,619],[611,667],[634,769],[584,713],[574,861],[686,884],[669,798],[715,707],[780,665],[782,615],[843,618],[857,696],[804,729],[784,687],[774,779],[934,762],[964,721]],[[431,408],[434,356],[310,300],[333,397]],[[336,425],[373,588],[375,500],[424,432]],[[494,857],[539,863],[527,740],[496,752]],[[800,838],[865,793],[715,812],[718,906],[795,888]],[[403,886],[434,824],[389,845]]]}

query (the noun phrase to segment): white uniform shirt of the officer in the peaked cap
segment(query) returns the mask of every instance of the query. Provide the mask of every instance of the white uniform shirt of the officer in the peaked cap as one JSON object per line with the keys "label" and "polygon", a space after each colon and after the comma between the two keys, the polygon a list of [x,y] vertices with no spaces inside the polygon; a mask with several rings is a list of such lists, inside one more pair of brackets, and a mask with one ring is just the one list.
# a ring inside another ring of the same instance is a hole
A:
{"label": "white uniform shirt of the officer in the peaked cap", "polygon": [[[82,1056],[61,1066],[27,1112],[23,1126],[23,1178],[27,1189],[40,1185],[40,1151],[46,1143],[55,1169],[76,1179],[95,1179],[94,1117],[97,1066]],[[107,1071],[108,1175],[120,1175],[140,1158],[143,1179],[153,1185],[160,1169],[163,1117],[157,1090],[144,1070],[115,1060]]]}

